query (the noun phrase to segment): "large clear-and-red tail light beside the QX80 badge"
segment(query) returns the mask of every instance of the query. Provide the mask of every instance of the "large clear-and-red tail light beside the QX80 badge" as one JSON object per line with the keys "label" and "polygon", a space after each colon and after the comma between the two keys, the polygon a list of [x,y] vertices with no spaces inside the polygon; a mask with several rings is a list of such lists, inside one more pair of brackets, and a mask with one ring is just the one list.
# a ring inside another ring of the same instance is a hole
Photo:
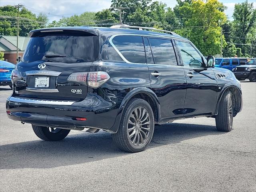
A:
{"label": "large clear-and-red tail light beside the QX80 badge", "polygon": [[102,86],[109,79],[110,76],[103,71],[72,73],[68,76],[69,82],[78,82],[92,88]]}

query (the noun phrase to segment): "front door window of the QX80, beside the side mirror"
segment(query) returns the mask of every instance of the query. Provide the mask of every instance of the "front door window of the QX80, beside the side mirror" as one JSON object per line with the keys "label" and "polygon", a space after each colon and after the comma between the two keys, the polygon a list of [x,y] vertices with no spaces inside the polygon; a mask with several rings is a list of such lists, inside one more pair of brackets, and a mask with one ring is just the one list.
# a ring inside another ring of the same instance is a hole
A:
{"label": "front door window of the QX80, beside the side mirror", "polygon": [[202,57],[196,49],[188,42],[176,41],[183,65],[186,67],[202,67]]}

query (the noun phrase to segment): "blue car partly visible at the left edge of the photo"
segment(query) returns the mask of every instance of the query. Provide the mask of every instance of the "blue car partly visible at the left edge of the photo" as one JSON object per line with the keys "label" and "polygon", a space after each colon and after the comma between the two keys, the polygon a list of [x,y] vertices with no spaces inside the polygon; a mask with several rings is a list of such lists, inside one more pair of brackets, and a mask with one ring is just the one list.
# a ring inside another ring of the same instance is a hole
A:
{"label": "blue car partly visible at the left edge of the photo", "polygon": [[7,61],[0,61],[0,85],[12,88],[11,73],[15,65]]}

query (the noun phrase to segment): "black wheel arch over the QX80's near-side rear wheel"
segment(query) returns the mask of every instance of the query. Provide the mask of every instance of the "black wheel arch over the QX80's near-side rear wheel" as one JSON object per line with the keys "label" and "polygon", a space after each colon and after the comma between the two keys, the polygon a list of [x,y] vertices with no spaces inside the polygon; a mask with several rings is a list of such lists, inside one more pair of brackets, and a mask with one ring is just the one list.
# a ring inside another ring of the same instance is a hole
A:
{"label": "black wheel arch over the QX80's near-side rear wheel", "polygon": [[116,133],[119,128],[120,120],[122,118],[123,110],[126,106],[126,104],[132,99],[132,98],[140,98],[143,100],[146,100],[148,102],[153,110],[155,122],[158,122],[160,120],[160,102],[158,100],[158,97],[156,94],[149,88],[146,87],[138,87],[134,88],[122,100],[120,107],[118,109],[118,113],[116,116],[116,121],[112,128],[110,128],[110,133]]}

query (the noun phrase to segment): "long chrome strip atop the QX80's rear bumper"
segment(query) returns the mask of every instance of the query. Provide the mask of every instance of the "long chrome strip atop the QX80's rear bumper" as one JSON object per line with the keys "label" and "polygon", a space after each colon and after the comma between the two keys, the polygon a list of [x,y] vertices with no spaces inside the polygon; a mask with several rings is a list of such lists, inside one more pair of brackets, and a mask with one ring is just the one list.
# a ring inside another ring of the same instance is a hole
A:
{"label": "long chrome strip atop the QX80's rear bumper", "polygon": [[72,105],[76,101],[66,100],[46,100],[46,99],[31,99],[22,97],[10,97],[12,102],[29,103],[29,104],[49,104],[49,105]]}

